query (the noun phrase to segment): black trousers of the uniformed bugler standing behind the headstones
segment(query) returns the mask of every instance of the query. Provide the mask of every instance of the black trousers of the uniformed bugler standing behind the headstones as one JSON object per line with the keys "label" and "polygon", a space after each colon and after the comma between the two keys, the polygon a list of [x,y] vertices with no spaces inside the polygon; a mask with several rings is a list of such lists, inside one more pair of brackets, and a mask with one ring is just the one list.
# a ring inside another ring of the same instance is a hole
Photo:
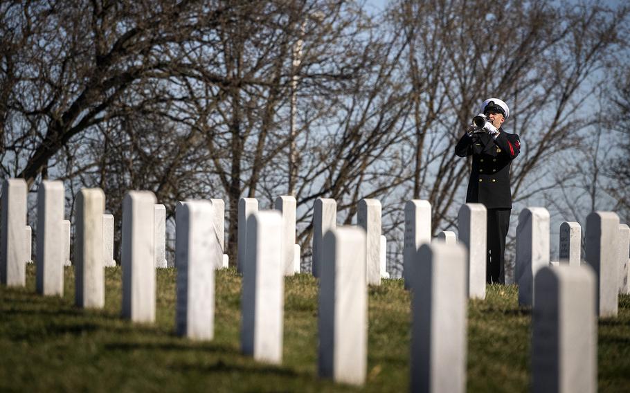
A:
{"label": "black trousers of the uniformed bugler standing behind the headstones", "polygon": [[512,209],[488,209],[485,280],[505,284],[505,237],[510,228]]}

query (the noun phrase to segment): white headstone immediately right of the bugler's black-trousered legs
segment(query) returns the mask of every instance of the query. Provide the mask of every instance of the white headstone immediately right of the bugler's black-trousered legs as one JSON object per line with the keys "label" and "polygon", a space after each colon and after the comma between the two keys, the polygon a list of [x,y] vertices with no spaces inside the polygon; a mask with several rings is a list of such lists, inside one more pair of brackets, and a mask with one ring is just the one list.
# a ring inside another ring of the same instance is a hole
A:
{"label": "white headstone immediately right of the bugler's black-trousered legs", "polygon": [[549,266],[549,212],[546,208],[525,208],[516,226],[514,272],[521,306],[533,305],[534,277],[545,266]]}

